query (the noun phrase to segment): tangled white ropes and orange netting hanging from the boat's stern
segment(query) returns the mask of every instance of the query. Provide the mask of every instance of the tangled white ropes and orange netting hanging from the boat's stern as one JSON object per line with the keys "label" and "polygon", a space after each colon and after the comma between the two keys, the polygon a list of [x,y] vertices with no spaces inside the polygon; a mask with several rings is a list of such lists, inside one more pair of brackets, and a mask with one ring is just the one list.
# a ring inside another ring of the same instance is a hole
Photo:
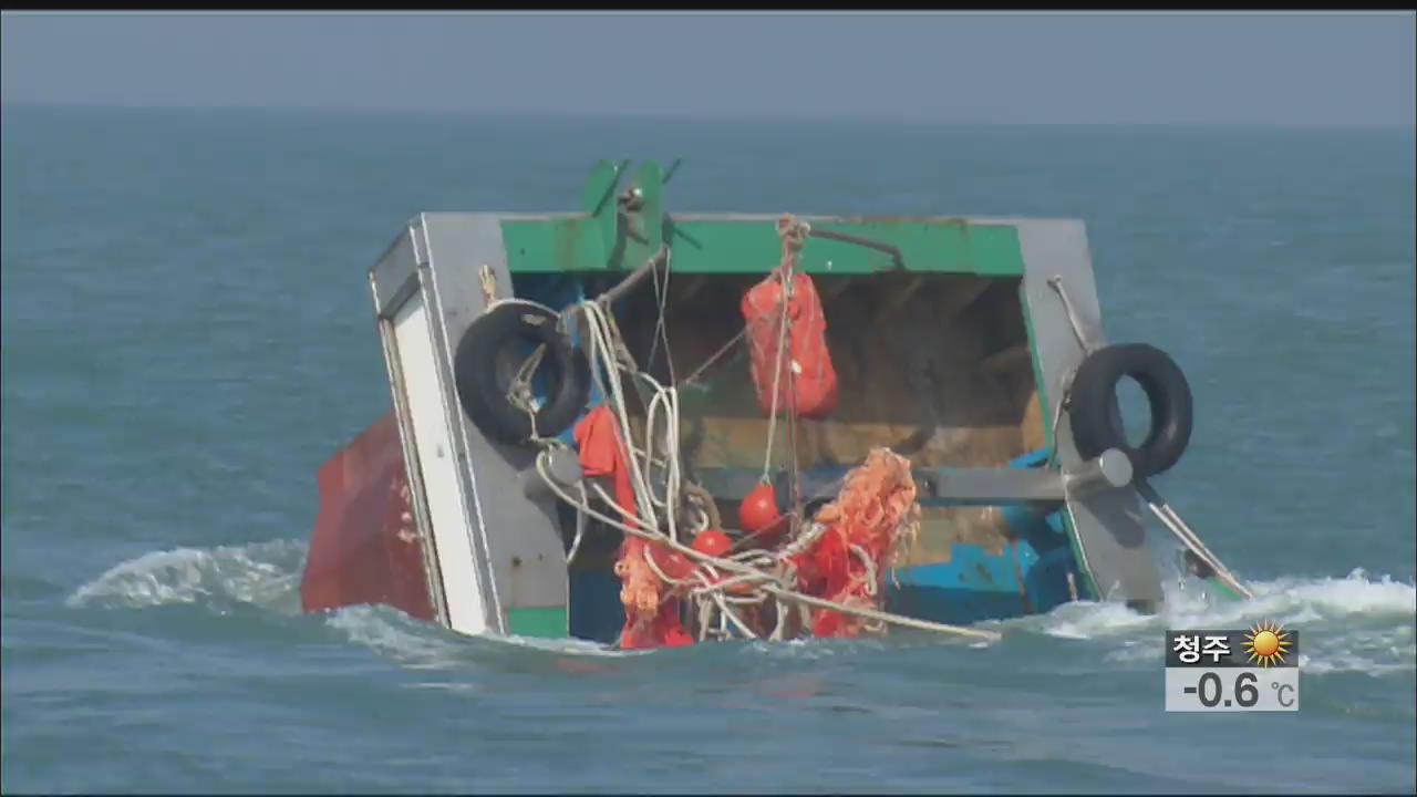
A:
{"label": "tangled white ropes and orange netting hanging from the boat's stern", "polygon": [[[806,230],[805,224],[792,223],[791,217],[779,223],[785,265],[801,250]],[[849,635],[879,632],[886,625],[999,638],[992,631],[876,608],[883,577],[879,564],[894,563],[904,540],[913,539],[918,520],[910,464],[886,448],[873,450],[866,462],[847,474],[837,501],[819,511],[813,522],[794,529],[788,542],[777,550],[748,549],[716,556],[686,545],[679,528],[686,491],[679,451],[677,389],[660,384],[636,367],[606,302],[582,301],[565,311],[567,316],[572,313],[584,321],[592,379],[615,420],[615,444],[632,488],[632,506],[609,495],[599,484],[582,481],[577,485],[580,495],[572,495],[551,478],[551,454],[568,448],[560,440],[536,438],[541,447],[536,469],[561,501],[577,509],[577,535],[568,556],[580,549],[587,518],[626,535],[615,572],[622,579],[621,600],[626,608],[628,630],[677,615],[677,601],[686,598],[694,610],[691,627],[699,641],[734,635],[784,640],[805,632]],[[786,313],[782,315],[781,329],[785,330]],[[656,338],[660,335],[662,328],[656,328]],[[779,373],[784,349],[779,345]],[[642,397],[648,396],[639,445],[632,440],[623,386],[626,379],[643,390]],[[771,417],[775,416],[775,411],[771,413]],[[771,440],[769,433],[768,465]],[[652,478],[656,465],[662,479]],[[655,489],[656,481],[662,482],[662,489]],[[615,516],[592,505],[592,496]],[[677,628],[677,618],[670,625]]]}

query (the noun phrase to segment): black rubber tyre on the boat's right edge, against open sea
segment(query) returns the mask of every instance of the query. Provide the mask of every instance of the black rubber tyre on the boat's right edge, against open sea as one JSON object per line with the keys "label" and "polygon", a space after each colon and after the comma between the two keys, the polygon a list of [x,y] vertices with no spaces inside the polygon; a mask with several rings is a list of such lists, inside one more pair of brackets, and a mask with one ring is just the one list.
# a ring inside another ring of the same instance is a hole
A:
{"label": "black rubber tyre on the boat's right edge, against open sea", "polygon": [[[1117,384],[1132,377],[1151,404],[1151,430],[1138,447],[1127,442],[1127,431],[1112,416]],[[1152,476],[1175,465],[1190,444],[1190,384],[1169,355],[1146,343],[1107,346],[1088,355],[1073,377],[1068,403],[1073,444],[1084,459],[1108,448],[1127,452],[1138,478]]]}

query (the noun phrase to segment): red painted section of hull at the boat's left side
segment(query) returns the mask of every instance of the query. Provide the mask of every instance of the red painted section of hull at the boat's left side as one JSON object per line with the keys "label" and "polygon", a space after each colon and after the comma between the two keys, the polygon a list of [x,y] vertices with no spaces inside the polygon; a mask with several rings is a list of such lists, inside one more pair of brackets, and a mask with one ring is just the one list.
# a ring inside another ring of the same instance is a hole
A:
{"label": "red painted section of hull at the boat's left side", "polygon": [[305,611],[377,603],[435,620],[394,411],[320,465],[317,478],[320,511],[300,583]]}

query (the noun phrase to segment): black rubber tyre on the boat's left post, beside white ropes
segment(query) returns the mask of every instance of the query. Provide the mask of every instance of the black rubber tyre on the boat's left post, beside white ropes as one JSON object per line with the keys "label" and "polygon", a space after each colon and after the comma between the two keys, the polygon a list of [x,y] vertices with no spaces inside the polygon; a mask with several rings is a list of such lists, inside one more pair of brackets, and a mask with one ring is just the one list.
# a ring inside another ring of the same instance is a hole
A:
{"label": "black rubber tyre on the boat's left post, beside white ropes", "polygon": [[453,383],[462,411],[482,434],[509,444],[526,442],[533,435],[531,417],[512,404],[506,389],[497,384],[497,355],[513,339],[546,343],[537,370],[550,369],[551,389],[536,414],[536,434],[555,437],[585,410],[591,394],[589,363],[557,329],[557,322],[544,308],[506,303],[479,316],[462,333],[453,355]]}

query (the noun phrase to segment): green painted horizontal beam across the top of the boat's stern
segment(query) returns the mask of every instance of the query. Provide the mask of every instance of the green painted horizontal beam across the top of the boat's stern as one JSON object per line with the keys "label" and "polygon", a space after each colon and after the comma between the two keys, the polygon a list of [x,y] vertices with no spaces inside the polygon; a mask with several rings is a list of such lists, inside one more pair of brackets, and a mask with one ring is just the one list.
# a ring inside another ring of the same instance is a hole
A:
{"label": "green painted horizontal beam across the top of the boat's stern", "polygon": [[[959,218],[860,218],[819,223],[894,245],[907,271],[934,274],[1023,275],[1023,250],[1012,224],[972,224]],[[778,264],[782,244],[771,220],[666,218],[665,235],[680,274],[765,274]],[[649,235],[653,241],[655,235]],[[513,272],[625,271],[639,267],[652,247],[619,231],[606,241],[597,218],[585,214],[551,220],[506,220],[502,238]],[[808,274],[860,275],[888,271],[894,258],[877,250],[830,238],[809,238],[801,267]]]}

